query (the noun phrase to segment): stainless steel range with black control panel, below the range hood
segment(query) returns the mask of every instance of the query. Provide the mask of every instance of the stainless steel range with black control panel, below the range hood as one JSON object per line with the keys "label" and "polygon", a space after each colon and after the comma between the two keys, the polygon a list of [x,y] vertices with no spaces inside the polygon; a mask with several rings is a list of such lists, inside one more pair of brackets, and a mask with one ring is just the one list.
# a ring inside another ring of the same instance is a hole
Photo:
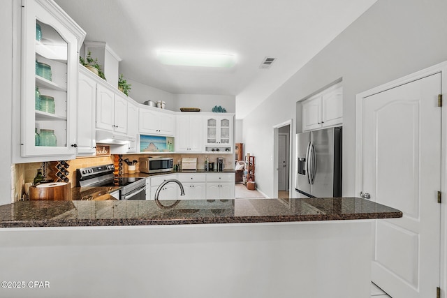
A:
{"label": "stainless steel range with black control panel, below the range hood", "polygon": [[146,200],[146,179],[115,177],[115,165],[97,165],[76,170],[78,186],[119,186],[119,200]]}

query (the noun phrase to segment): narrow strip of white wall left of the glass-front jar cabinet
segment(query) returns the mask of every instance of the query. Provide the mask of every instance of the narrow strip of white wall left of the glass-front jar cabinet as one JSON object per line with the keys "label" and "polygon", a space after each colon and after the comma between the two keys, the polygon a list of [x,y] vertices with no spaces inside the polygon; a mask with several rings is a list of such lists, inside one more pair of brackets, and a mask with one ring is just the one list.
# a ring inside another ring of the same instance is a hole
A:
{"label": "narrow strip of white wall left of the glass-front jar cabinet", "polygon": [[0,205],[9,204],[11,202],[11,128],[12,126],[12,103],[13,100],[20,100],[20,94],[13,94],[13,0],[3,1],[1,3],[1,9],[3,10],[2,17],[0,18],[1,30],[1,55],[0,65],[1,80],[1,109],[0,119],[3,124],[6,124],[1,129],[1,142],[0,142]]}

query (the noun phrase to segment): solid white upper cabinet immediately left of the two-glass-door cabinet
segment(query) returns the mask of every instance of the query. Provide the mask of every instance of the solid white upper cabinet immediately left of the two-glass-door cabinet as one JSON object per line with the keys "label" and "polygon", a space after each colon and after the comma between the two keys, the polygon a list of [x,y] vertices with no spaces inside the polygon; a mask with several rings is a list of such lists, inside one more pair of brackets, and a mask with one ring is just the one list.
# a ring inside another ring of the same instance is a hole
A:
{"label": "solid white upper cabinet immediately left of the two-glass-door cabinet", "polygon": [[203,151],[203,117],[180,114],[176,117],[175,151],[182,153]]}

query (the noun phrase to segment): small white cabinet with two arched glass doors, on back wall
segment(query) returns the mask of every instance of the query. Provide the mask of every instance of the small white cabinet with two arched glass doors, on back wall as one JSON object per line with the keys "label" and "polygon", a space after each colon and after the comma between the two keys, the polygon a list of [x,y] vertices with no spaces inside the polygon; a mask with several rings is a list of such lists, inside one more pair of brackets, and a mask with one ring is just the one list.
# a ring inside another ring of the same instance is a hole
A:
{"label": "small white cabinet with two arched glass doors, on back wall", "polygon": [[204,122],[205,151],[233,152],[234,114],[226,114],[224,116],[213,114],[211,116],[205,116]]}

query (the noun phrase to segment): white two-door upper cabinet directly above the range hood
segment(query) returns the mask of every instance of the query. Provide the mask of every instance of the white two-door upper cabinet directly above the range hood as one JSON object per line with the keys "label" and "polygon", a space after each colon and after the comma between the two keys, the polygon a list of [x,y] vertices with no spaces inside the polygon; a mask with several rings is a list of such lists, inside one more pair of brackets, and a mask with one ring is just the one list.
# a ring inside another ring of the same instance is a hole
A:
{"label": "white two-door upper cabinet directly above the range hood", "polygon": [[127,132],[127,100],[103,84],[96,86],[96,128]]}

